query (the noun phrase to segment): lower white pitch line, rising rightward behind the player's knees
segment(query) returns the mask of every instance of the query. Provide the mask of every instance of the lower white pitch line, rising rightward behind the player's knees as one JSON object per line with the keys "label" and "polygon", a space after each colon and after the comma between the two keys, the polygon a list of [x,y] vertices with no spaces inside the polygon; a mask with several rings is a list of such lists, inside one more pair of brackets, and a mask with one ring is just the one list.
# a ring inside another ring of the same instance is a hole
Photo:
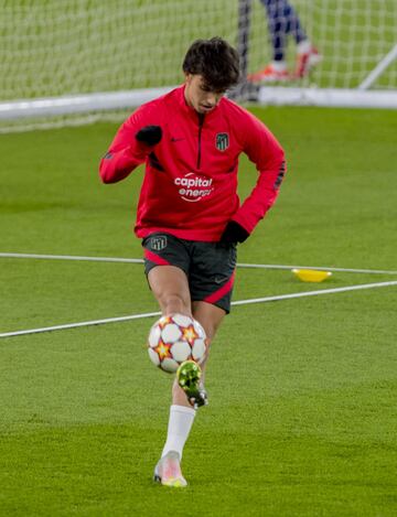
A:
{"label": "lower white pitch line, rising rightward behind the player's knees", "polygon": [[[239,300],[236,302],[232,302],[232,305],[248,305],[250,303],[277,302],[280,300],[291,300],[293,298],[315,297],[315,295],[321,295],[321,294],[333,294],[336,292],[386,288],[390,286],[397,286],[397,280],[390,281],[390,282],[376,282],[376,283],[363,283],[358,286],[346,286],[344,288],[322,289],[319,291],[294,292],[291,294],[280,294],[277,297],[253,298],[248,300]],[[14,337],[14,336],[26,335],[26,334],[39,334],[42,332],[51,332],[51,331],[63,331],[66,328],[76,328],[81,326],[104,325],[107,323],[118,323],[118,322],[125,322],[125,321],[130,321],[130,320],[140,320],[143,317],[159,316],[160,314],[161,314],[160,312],[147,312],[143,314],[132,314],[130,316],[108,317],[106,320],[94,320],[94,321],[81,322],[81,323],[68,323],[65,325],[46,326],[43,328],[31,328],[28,331],[6,332],[3,334],[0,334],[0,338],[1,337]]]}

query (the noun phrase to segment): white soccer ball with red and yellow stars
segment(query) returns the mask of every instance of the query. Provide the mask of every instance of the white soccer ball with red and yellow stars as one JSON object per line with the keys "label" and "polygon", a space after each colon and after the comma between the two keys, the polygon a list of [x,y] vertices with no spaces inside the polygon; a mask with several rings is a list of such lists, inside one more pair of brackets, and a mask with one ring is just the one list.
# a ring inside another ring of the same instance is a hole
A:
{"label": "white soccer ball with red and yellow stars", "polygon": [[150,330],[149,357],[164,371],[174,373],[189,359],[202,363],[205,351],[204,328],[197,321],[184,314],[162,316]]}

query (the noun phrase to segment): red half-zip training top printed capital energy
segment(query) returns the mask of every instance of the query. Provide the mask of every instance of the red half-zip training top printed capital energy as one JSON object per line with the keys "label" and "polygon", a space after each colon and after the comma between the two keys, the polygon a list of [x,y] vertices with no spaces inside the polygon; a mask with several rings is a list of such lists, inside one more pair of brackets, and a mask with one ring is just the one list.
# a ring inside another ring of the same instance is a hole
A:
{"label": "red half-zip training top printed capital energy", "polygon": [[[150,148],[135,136],[151,125],[162,128],[162,139]],[[259,176],[240,206],[242,152],[256,164]],[[251,233],[275,203],[286,172],[280,144],[256,117],[225,97],[212,111],[198,115],[187,106],[184,86],[142,105],[124,122],[100,161],[100,177],[118,182],[143,162],[138,237],[164,231],[216,241],[230,219]]]}

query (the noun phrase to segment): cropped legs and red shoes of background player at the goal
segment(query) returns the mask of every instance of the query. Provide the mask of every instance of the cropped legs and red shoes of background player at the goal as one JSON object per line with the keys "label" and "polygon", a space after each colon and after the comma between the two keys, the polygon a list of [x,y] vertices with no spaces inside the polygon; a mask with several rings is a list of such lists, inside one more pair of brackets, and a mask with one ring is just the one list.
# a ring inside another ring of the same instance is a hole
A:
{"label": "cropped legs and red shoes of background player at the goal", "polygon": [[[272,61],[265,68],[250,74],[254,83],[288,80],[308,75],[309,71],[322,60],[318,50],[311,44],[302,23],[288,0],[260,0],[267,11],[269,35],[272,46]],[[290,75],[286,63],[286,46],[291,34],[297,44],[297,65]]]}

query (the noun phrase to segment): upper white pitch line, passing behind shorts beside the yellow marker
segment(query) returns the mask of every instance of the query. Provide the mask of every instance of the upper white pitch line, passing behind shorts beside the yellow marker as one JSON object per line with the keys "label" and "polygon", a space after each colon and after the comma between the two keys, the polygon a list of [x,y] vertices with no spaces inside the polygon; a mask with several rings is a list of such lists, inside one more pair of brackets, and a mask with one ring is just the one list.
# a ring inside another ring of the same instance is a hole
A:
{"label": "upper white pitch line, passing behind shorts beside the yellow marker", "polygon": [[[142,259],[118,258],[118,257],[81,257],[75,255],[36,255],[36,254],[12,254],[0,252],[0,258],[20,258],[20,259],[50,259],[50,260],[85,260],[89,262],[125,262],[143,263]],[[328,268],[324,266],[282,266],[277,263],[237,263],[238,268],[250,269],[316,269],[319,271],[340,271],[351,273],[368,274],[397,274],[397,271],[387,271],[382,269],[350,269],[350,268]]]}

